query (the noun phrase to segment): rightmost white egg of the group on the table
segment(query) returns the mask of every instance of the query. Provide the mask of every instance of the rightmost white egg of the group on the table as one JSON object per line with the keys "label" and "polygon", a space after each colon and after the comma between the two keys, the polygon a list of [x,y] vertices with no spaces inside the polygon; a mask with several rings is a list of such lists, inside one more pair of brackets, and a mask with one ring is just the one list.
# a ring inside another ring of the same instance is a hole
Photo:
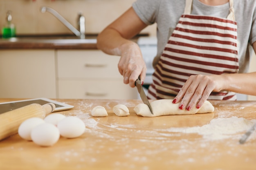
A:
{"label": "rightmost white egg of the group on the table", "polygon": [[61,136],[66,138],[79,137],[85,131],[85,124],[81,119],[74,116],[68,116],[58,122],[58,130]]}

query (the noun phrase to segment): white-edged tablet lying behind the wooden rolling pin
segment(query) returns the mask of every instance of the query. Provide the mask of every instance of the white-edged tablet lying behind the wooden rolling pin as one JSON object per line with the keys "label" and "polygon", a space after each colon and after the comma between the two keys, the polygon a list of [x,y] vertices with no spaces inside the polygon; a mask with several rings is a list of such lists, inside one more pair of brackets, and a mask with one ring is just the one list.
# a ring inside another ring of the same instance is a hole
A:
{"label": "white-edged tablet lying behind the wooden rolling pin", "polygon": [[54,103],[56,106],[54,112],[61,111],[61,110],[69,110],[71,108],[74,108],[74,106],[72,106],[72,105],[57,102],[55,100],[51,100],[51,99],[47,99],[47,98],[36,98],[36,99],[26,99],[26,100],[18,100],[18,101],[13,101],[13,102],[0,103],[0,114],[14,110],[16,108],[27,106],[27,105],[33,104],[33,103],[37,103],[40,105],[44,105],[47,103]]}

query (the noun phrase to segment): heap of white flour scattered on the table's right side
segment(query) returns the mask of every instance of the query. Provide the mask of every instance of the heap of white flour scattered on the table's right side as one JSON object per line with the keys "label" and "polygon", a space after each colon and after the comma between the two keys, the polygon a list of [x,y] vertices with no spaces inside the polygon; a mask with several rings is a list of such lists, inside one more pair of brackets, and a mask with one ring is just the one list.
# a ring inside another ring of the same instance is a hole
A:
{"label": "heap of white flour scattered on the table's right side", "polygon": [[196,126],[191,128],[168,128],[168,132],[182,132],[182,133],[198,133],[204,139],[220,140],[231,137],[239,132],[249,130],[256,120],[247,120],[243,117],[230,117],[230,118],[216,118],[210,121],[209,124],[204,126]]}

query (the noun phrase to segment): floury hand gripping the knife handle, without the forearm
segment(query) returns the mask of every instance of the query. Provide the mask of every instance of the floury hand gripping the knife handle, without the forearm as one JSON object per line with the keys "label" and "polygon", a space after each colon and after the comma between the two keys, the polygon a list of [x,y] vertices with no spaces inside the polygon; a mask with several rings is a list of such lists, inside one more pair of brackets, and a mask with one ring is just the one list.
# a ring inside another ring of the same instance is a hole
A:
{"label": "floury hand gripping the knife handle, without the forearm", "polygon": [[118,70],[124,77],[124,84],[135,87],[135,81],[141,77],[143,82],[146,77],[146,64],[143,60],[139,46],[135,42],[121,46],[121,58],[118,63]]}

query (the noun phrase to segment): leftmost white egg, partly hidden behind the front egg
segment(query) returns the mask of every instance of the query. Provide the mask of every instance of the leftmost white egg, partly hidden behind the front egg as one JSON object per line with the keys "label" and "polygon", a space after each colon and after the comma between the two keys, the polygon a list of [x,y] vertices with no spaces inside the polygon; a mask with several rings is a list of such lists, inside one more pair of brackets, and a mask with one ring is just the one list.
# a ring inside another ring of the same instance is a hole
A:
{"label": "leftmost white egg, partly hidden behind the front egg", "polygon": [[25,121],[23,121],[19,128],[18,128],[18,134],[22,139],[31,141],[31,131],[34,127],[45,123],[45,121],[39,117],[31,117]]}

